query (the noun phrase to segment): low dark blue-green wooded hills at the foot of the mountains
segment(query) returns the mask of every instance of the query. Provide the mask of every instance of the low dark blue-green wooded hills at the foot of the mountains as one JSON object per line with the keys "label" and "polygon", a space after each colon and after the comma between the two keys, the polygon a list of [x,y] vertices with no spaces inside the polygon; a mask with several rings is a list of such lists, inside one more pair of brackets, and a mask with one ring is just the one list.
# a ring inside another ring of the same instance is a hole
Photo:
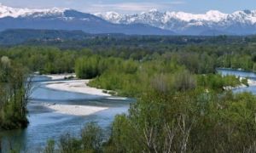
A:
{"label": "low dark blue-green wooded hills at the foot of the mountains", "polygon": [[141,44],[207,44],[207,43],[255,42],[254,36],[132,36],[125,34],[89,34],[83,31],[11,29],[0,32],[1,45],[32,44],[55,45],[61,48],[81,48],[88,46],[116,46]]}

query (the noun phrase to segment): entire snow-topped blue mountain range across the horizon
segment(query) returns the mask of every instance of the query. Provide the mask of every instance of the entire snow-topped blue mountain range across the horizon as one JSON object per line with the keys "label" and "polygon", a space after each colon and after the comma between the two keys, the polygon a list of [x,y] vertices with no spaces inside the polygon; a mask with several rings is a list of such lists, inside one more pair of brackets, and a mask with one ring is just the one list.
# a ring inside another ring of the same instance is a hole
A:
{"label": "entire snow-topped blue mountain range across the horizon", "polygon": [[11,8],[0,4],[0,31],[7,29],[127,35],[251,35],[256,33],[256,10],[232,14],[210,10],[206,14],[189,14],[152,9],[140,14],[87,14],[69,8]]}

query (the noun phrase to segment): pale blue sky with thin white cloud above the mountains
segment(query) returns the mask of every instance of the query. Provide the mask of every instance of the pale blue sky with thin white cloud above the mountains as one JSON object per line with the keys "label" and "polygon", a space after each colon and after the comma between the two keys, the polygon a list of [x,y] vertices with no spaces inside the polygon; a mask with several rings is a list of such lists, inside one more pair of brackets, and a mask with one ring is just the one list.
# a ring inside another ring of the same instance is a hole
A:
{"label": "pale blue sky with thin white cloud above the mountains", "polygon": [[21,8],[74,8],[96,13],[116,11],[133,14],[157,8],[160,11],[205,13],[210,9],[232,13],[236,10],[256,9],[255,0],[0,0],[10,7]]}

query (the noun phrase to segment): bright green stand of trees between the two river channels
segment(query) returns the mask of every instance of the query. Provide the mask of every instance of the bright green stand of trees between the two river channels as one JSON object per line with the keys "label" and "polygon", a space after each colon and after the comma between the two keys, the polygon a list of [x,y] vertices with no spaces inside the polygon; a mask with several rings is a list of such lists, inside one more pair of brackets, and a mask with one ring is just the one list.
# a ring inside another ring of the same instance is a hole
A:
{"label": "bright green stand of trees between the two river channels", "polygon": [[247,80],[240,82],[239,78],[233,76],[222,77],[214,74],[214,66],[207,67],[207,59],[203,60],[205,62],[202,59],[195,60],[195,64],[206,65],[195,70],[195,66],[182,64],[178,58],[176,60],[166,58],[166,54],[147,61],[89,55],[77,59],[75,71],[79,78],[94,78],[90,86],[131,97],[139,96],[145,89],[151,88],[152,84],[157,84],[160,80],[166,82],[159,87],[161,90],[166,90],[166,86],[169,85],[176,89],[201,87],[223,91],[224,87],[247,84]]}

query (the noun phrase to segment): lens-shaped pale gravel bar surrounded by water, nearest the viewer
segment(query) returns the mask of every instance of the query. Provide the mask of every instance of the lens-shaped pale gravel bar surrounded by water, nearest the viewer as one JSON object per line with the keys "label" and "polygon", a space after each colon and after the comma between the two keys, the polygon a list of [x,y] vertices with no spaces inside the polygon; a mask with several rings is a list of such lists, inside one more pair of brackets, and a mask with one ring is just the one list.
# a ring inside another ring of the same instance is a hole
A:
{"label": "lens-shaped pale gravel bar surrounded by water, nearest the viewer", "polygon": [[44,105],[56,113],[67,114],[72,116],[88,116],[98,111],[107,110],[108,107],[96,107],[85,105]]}

